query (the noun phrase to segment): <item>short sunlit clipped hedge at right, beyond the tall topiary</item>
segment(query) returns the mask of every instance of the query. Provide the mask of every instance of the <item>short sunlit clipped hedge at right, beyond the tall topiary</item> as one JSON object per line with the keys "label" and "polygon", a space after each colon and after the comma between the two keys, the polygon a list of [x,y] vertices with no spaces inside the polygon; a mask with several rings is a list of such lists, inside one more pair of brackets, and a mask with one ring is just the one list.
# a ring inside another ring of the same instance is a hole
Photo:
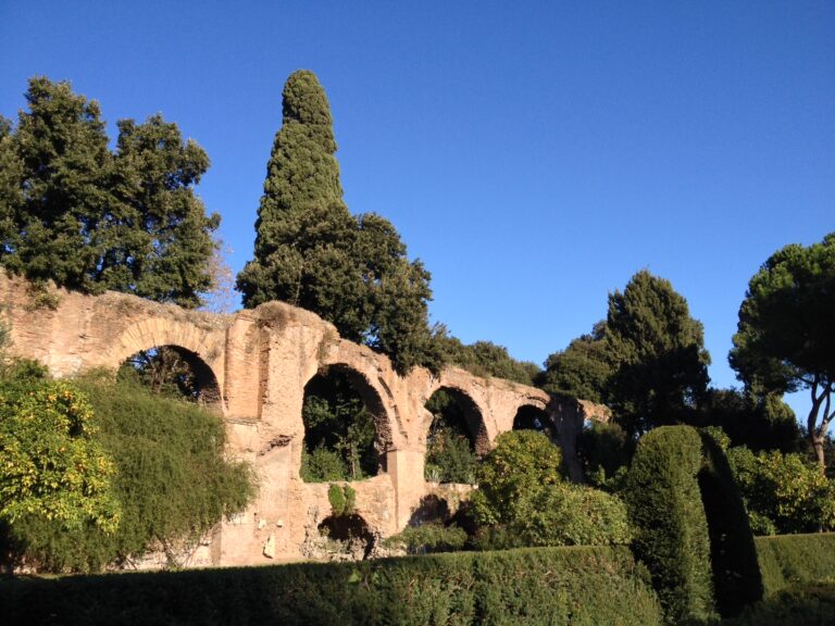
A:
{"label": "short sunlit clipped hedge at right, beyond the tall topiary", "polygon": [[765,596],[808,584],[835,581],[835,534],[757,537]]}

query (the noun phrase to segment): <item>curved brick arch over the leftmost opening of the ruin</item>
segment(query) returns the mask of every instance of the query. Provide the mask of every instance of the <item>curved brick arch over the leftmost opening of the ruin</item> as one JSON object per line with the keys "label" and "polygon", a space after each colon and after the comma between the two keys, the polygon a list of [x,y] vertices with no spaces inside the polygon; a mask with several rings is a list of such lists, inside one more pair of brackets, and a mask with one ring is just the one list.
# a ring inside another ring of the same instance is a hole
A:
{"label": "curved brick arch over the leftmost opening of the ruin", "polygon": [[191,367],[201,390],[201,400],[210,409],[225,415],[224,339],[223,333],[202,329],[194,324],[148,318],[128,326],[102,355],[100,363],[116,370],[137,352],[162,347],[173,348]]}

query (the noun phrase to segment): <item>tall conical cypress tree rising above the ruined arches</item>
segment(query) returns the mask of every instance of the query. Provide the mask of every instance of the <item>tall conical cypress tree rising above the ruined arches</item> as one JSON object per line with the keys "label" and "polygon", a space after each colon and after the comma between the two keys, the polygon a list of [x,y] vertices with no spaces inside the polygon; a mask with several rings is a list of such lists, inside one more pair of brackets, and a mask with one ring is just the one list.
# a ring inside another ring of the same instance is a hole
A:
{"label": "tall conical cypress tree rising above the ruined arches", "polygon": [[238,275],[238,289],[247,308],[283,300],[315,311],[357,340],[367,316],[356,308],[357,229],[342,201],[331,107],[308,71],[288,78],[283,100],[256,222],[254,260]]}

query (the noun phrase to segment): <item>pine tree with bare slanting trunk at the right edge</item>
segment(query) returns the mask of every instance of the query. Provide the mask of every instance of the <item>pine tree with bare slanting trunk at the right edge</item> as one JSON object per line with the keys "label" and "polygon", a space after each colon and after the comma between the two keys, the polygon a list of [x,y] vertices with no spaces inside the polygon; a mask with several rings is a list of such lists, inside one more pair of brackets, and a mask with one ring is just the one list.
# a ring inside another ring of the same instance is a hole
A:
{"label": "pine tree with bare slanting trunk at the right edge", "polygon": [[835,417],[835,233],[772,254],[748,284],[731,366],[753,393],[809,390],[806,423],[818,463]]}

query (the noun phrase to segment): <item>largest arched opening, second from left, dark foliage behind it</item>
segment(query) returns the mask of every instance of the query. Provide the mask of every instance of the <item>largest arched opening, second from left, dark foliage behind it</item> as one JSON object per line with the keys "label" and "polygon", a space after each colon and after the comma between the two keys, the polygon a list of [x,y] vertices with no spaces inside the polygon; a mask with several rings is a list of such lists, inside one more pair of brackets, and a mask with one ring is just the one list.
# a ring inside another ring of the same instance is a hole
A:
{"label": "largest arched opening, second from left, dark foliage behind it", "polygon": [[301,479],[362,480],[385,472],[390,429],[379,396],[345,365],[322,370],[304,387]]}

